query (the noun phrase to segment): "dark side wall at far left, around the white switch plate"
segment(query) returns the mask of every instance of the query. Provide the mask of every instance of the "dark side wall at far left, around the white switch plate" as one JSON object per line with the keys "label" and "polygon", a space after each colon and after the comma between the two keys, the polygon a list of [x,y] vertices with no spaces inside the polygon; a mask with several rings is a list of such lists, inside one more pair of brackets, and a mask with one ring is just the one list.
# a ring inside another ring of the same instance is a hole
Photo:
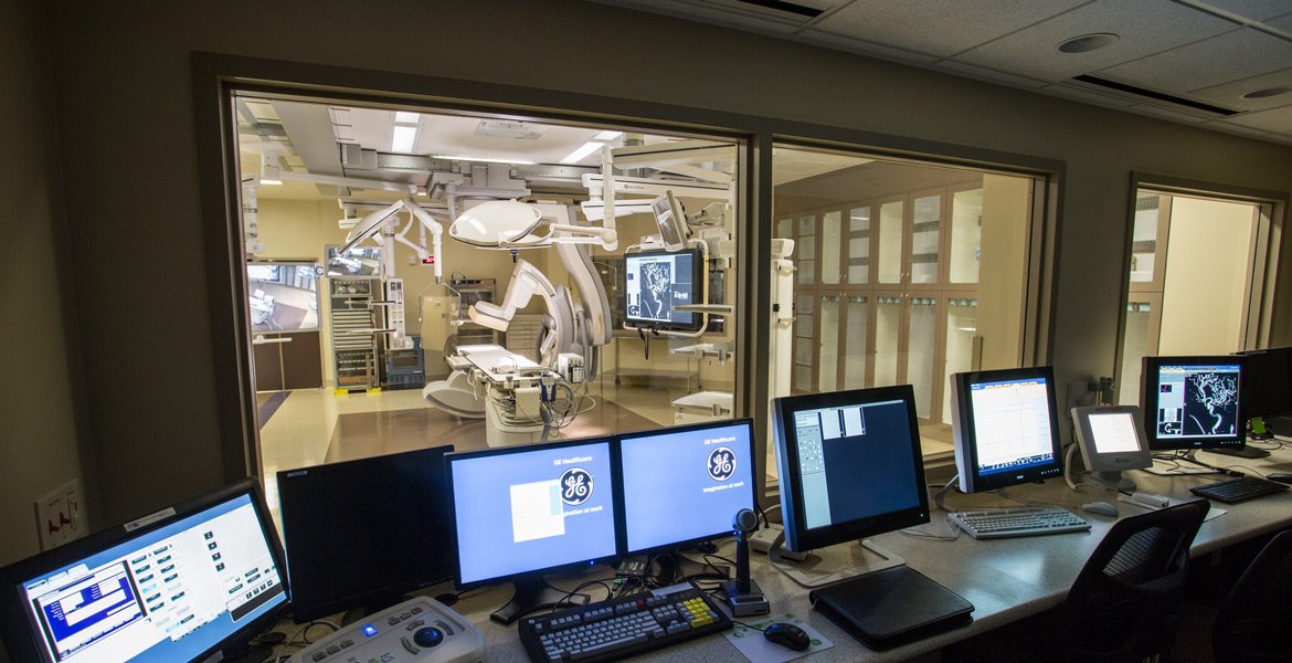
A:
{"label": "dark side wall at far left, around the white switch plate", "polygon": [[50,149],[57,136],[44,21],[35,3],[0,4],[0,121],[22,128],[9,132],[0,159],[12,193],[0,260],[0,566],[40,552],[35,500],[78,479],[87,508],[94,505],[93,456],[80,448],[85,386],[67,306],[67,220]]}

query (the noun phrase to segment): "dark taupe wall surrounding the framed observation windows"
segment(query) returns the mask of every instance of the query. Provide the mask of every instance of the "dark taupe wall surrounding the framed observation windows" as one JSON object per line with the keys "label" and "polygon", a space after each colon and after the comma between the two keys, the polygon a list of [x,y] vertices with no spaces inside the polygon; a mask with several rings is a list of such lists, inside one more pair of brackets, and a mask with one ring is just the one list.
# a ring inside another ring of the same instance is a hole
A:
{"label": "dark taupe wall surrounding the framed observation windows", "polygon": [[[1292,189],[1288,146],[593,3],[379,0],[364,5],[363,27],[344,0],[146,0],[49,12],[59,146],[75,164],[70,264],[112,517],[224,479],[193,50],[664,102],[1062,160],[1050,345],[1061,383],[1112,371],[1132,169]],[[380,48],[364,39],[372,31]],[[696,47],[660,49],[659,35]],[[114,264],[109,279],[99,278],[105,255],[149,260]],[[123,282],[154,291],[129,296]],[[169,470],[140,482],[141,458]]]}

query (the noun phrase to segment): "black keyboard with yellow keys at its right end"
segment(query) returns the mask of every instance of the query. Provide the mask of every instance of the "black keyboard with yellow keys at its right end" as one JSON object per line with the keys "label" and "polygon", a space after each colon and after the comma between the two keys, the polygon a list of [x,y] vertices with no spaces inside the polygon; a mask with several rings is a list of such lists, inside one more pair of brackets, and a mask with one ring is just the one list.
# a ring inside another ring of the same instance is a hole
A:
{"label": "black keyboard with yellow keys at its right end", "polygon": [[534,663],[619,660],[731,628],[694,583],[607,598],[518,623]]}

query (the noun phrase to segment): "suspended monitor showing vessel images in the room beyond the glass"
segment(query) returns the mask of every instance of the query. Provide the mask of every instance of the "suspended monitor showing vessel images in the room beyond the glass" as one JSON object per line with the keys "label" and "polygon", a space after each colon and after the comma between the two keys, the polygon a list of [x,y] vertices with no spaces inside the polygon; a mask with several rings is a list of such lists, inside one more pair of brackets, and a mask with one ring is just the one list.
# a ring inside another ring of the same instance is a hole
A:
{"label": "suspended monitor showing vessel images in the room beyond the glass", "polygon": [[704,304],[700,251],[642,251],[624,256],[625,321],[633,327],[694,331],[702,314],[674,306]]}

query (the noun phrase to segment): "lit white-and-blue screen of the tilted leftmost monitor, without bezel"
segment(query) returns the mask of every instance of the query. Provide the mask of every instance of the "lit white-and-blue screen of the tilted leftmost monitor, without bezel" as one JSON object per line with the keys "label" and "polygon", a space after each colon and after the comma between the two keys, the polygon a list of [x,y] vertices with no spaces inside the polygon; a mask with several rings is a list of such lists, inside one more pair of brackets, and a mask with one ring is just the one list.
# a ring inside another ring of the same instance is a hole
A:
{"label": "lit white-and-blue screen of the tilted leftmost monitor, without bezel", "polygon": [[21,588],[47,660],[194,660],[287,601],[247,494]]}

